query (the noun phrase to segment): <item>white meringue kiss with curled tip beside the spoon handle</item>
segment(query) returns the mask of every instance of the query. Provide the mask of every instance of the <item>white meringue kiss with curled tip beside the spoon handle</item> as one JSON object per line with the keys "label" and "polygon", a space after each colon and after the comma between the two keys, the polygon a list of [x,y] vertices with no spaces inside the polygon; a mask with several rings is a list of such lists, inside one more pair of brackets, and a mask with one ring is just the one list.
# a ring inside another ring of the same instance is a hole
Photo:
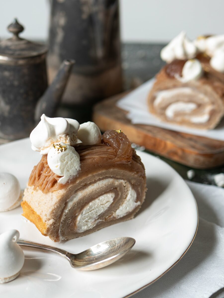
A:
{"label": "white meringue kiss with curled tip beside the spoon handle", "polygon": [[17,230],[9,230],[0,235],[0,283],[15,279],[23,267],[24,253],[16,243],[18,238]]}

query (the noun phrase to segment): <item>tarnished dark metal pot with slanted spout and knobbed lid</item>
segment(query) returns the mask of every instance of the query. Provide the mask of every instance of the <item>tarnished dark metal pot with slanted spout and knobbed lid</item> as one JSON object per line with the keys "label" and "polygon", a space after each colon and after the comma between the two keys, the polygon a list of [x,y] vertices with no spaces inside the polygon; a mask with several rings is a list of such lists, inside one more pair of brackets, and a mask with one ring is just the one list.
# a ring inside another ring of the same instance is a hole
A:
{"label": "tarnished dark metal pot with slanted spout and knobbed lid", "polygon": [[16,19],[7,29],[13,37],[0,42],[0,138],[15,140],[29,136],[42,114],[54,116],[74,60],[62,62],[48,87],[47,47],[20,38]]}

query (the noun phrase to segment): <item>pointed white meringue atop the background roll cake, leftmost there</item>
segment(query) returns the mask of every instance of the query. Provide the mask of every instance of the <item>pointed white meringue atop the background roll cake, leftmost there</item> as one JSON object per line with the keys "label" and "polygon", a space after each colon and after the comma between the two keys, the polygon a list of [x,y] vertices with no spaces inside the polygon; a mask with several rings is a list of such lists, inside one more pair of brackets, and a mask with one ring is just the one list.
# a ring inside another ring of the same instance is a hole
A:
{"label": "pointed white meringue atop the background roll cake, leftmost there", "polygon": [[167,63],[171,63],[175,59],[194,58],[196,54],[197,47],[186,37],[186,32],[182,31],[161,50],[160,57]]}

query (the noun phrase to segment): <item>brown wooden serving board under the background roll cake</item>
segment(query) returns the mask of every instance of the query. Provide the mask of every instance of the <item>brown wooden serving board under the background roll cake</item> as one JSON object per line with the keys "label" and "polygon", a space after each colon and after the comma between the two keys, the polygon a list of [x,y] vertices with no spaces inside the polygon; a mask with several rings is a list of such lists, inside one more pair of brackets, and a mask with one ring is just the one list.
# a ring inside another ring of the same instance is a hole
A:
{"label": "brown wooden serving board under the background roll cake", "polygon": [[126,118],[127,112],[116,106],[116,102],[126,94],[95,105],[93,121],[101,131],[121,128],[131,142],[189,167],[209,169],[224,164],[223,141],[151,125],[132,124]]}

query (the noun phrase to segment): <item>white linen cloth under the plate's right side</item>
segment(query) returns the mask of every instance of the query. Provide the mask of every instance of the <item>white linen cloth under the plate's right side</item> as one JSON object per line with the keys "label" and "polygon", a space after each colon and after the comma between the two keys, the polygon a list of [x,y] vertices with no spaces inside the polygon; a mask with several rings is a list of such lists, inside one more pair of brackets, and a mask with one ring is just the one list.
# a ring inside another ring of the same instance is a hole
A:
{"label": "white linen cloth under the plate's right side", "polygon": [[224,189],[186,181],[197,201],[197,235],[183,258],[133,298],[224,297]]}

